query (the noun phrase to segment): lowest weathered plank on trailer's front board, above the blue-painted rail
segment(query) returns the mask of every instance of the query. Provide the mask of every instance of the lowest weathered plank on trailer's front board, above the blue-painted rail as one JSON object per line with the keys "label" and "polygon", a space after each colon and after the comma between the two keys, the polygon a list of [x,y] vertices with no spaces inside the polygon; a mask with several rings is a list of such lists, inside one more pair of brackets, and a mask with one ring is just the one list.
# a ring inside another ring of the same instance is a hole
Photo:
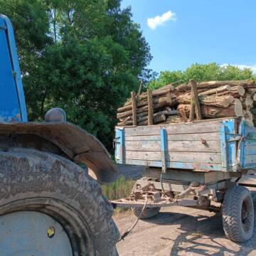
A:
{"label": "lowest weathered plank on trailer's front board, above the blue-painted rail", "polygon": [[[125,159],[161,161],[161,151],[125,151]],[[171,152],[166,160],[181,163],[221,164],[220,153]]]}

